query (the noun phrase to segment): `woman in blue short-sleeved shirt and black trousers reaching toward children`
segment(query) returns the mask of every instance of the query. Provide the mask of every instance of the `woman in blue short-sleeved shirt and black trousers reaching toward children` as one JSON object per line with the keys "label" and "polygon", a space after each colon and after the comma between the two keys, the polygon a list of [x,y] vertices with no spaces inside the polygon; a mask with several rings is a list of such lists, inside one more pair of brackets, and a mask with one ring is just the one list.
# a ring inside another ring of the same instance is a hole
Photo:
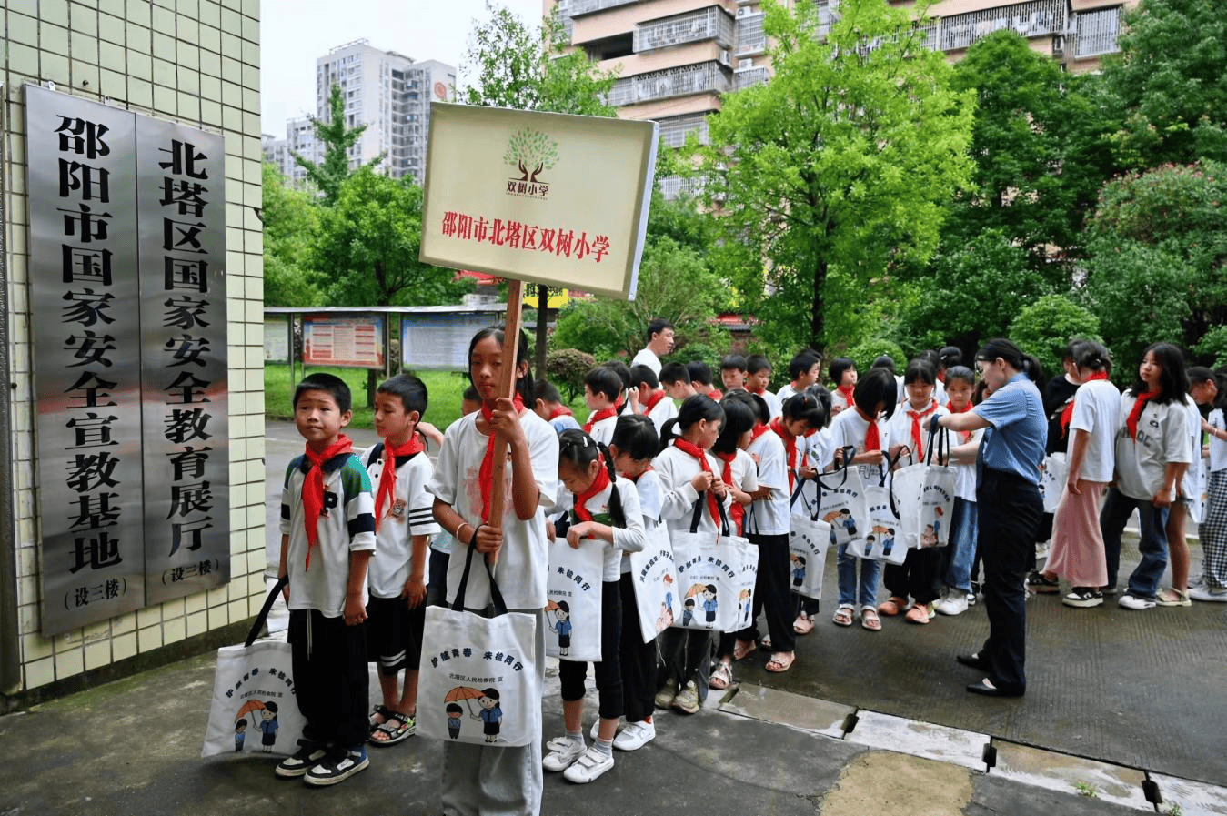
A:
{"label": "woman in blue short-sleeved shirt and black trousers reaching toward children", "polygon": [[1036,529],[1044,513],[1039,465],[1048,422],[1036,383],[1039,362],[1009,340],[990,340],[975,355],[975,371],[989,398],[966,414],[947,414],[934,423],[952,431],[984,428],[977,463],[979,512],[977,547],[984,563],[984,604],[989,637],[958,661],[983,670],[984,680],[967,691],[989,697],[1021,697],[1027,636],[1026,578]]}

